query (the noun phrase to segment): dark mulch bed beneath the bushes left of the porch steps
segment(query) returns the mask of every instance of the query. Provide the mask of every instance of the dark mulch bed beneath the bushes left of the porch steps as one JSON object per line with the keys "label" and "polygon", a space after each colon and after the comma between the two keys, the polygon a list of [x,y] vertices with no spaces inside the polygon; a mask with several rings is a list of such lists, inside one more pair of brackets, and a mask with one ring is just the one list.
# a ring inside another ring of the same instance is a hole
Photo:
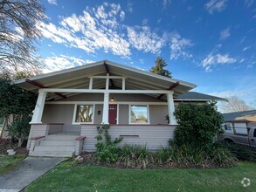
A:
{"label": "dark mulch bed beneath the bushes left of the porch steps", "polygon": [[25,146],[17,147],[17,141],[5,140],[0,138],[0,154],[7,154],[7,150],[12,148],[14,148],[16,154],[28,154]]}

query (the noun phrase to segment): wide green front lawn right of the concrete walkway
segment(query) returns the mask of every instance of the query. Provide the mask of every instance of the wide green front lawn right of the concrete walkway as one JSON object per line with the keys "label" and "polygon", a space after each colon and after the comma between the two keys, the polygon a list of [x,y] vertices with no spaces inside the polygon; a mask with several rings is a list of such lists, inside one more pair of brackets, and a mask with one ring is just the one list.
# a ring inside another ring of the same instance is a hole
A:
{"label": "wide green front lawn right of the concrete walkway", "polygon": [[[246,177],[251,185],[244,188]],[[33,182],[29,191],[255,191],[256,163],[235,168],[121,169],[74,166],[67,161]]]}

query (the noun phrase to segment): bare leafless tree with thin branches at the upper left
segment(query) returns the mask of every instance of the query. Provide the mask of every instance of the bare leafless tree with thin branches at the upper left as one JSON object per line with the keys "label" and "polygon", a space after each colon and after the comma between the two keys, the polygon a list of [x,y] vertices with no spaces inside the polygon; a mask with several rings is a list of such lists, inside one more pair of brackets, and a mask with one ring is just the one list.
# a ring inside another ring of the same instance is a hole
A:
{"label": "bare leafless tree with thin branches at the upper left", "polygon": [[37,28],[45,20],[45,8],[38,0],[0,1],[0,71],[39,72],[36,51],[41,37]]}

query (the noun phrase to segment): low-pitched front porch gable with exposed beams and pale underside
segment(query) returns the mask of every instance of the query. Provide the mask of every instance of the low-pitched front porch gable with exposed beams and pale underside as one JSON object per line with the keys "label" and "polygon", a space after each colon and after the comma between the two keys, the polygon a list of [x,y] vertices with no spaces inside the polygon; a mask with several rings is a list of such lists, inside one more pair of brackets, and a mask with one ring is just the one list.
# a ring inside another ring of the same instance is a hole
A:
{"label": "low-pitched front porch gable with exposed beams and pale underside", "polygon": [[[174,96],[176,97],[196,87],[196,85],[188,82],[178,79],[165,78],[160,75],[106,60],[62,70],[59,72],[38,75],[31,77],[30,80],[48,88],[87,89],[89,88],[88,77],[106,75],[107,71],[109,72],[110,76],[126,77],[127,79],[125,83],[127,90],[166,90],[179,81],[179,85],[173,90]],[[38,87],[27,83],[25,79],[18,79],[14,81],[14,84],[21,86],[28,91],[34,93],[38,92]],[[93,89],[105,88],[105,84],[105,79],[93,79]],[[109,86],[111,88],[121,88],[121,80],[112,79],[109,82]],[[64,95],[68,97],[73,95],[73,93],[64,93]],[[158,97],[159,95],[152,94],[152,96]],[[51,93],[51,99],[59,99],[59,96]]]}

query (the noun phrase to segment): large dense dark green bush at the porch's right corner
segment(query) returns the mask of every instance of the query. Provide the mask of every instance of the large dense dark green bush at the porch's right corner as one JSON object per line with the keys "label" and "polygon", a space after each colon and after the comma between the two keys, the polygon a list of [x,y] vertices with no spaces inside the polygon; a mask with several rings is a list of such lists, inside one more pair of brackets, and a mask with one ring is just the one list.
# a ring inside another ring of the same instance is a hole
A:
{"label": "large dense dark green bush at the porch's right corner", "polygon": [[176,107],[175,115],[178,123],[176,145],[211,148],[216,134],[222,132],[223,116],[218,113],[215,102],[204,105],[181,103]]}

